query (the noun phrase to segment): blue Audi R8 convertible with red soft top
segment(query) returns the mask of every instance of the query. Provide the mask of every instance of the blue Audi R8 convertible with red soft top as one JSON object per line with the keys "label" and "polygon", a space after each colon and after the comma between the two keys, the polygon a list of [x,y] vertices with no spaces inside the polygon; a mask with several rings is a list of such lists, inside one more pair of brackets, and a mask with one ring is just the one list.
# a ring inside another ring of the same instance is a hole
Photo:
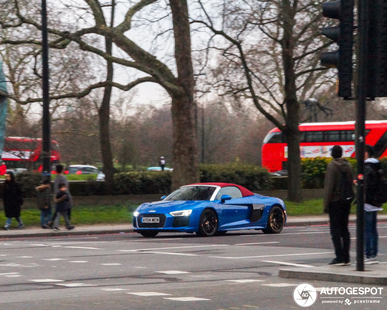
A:
{"label": "blue Audi R8 convertible with red soft top", "polygon": [[286,223],[281,199],[230,183],[190,184],[161,199],[135,210],[135,232],[144,237],[155,237],[159,232],[195,232],[211,237],[241,229],[280,233]]}

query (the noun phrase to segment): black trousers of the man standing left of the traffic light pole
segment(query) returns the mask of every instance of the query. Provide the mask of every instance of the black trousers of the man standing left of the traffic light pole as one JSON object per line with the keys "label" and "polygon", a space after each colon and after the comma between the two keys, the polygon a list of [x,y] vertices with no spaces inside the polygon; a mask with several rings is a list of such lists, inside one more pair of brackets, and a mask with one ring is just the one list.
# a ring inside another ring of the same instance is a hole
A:
{"label": "black trousers of the man standing left of the traffic light pole", "polygon": [[350,209],[351,201],[334,201],[329,204],[330,235],[332,235],[337,260],[344,262],[349,262],[351,238],[348,231],[348,216]]}

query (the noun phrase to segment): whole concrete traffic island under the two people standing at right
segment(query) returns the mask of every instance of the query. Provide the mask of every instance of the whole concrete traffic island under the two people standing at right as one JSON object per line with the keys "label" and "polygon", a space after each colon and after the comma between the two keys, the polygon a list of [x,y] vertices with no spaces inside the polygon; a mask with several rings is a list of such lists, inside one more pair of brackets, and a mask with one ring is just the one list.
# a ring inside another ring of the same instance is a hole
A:
{"label": "whole concrete traffic island under the two people standing at right", "polygon": [[279,270],[279,276],[288,279],[387,285],[387,264],[366,264],[364,269],[365,271],[356,271],[356,264],[285,268]]}

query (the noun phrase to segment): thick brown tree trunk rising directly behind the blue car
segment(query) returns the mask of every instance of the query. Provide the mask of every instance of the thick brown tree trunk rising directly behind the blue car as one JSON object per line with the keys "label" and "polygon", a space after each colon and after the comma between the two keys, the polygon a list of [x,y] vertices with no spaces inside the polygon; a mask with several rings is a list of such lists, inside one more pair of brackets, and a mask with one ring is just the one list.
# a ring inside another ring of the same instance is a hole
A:
{"label": "thick brown tree trunk rising directly behind the blue car", "polygon": [[170,0],[175,59],[176,85],[183,89],[172,97],[173,174],[172,189],[199,182],[195,135],[194,69],[191,58],[191,33],[186,0]]}

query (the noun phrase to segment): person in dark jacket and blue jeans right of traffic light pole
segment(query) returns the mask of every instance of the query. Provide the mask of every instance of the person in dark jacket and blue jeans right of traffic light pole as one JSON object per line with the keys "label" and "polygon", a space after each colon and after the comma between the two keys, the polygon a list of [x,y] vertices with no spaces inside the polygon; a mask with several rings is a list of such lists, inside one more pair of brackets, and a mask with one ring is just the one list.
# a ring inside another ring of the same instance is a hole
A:
{"label": "person in dark jacket and blue jeans right of traffic light pole", "polygon": [[378,254],[378,231],[377,213],[383,210],[382,203],[378,201],[378,191],[385,191],[380,188],[380,179],[383,176],[382,165],[379,160],[373,157],[374,149],[371,145],[365,145],[364,152],[364,183],[365,183],[365,204],[364,204],[364,242],[365,242],[365,264],[377,264]]}

